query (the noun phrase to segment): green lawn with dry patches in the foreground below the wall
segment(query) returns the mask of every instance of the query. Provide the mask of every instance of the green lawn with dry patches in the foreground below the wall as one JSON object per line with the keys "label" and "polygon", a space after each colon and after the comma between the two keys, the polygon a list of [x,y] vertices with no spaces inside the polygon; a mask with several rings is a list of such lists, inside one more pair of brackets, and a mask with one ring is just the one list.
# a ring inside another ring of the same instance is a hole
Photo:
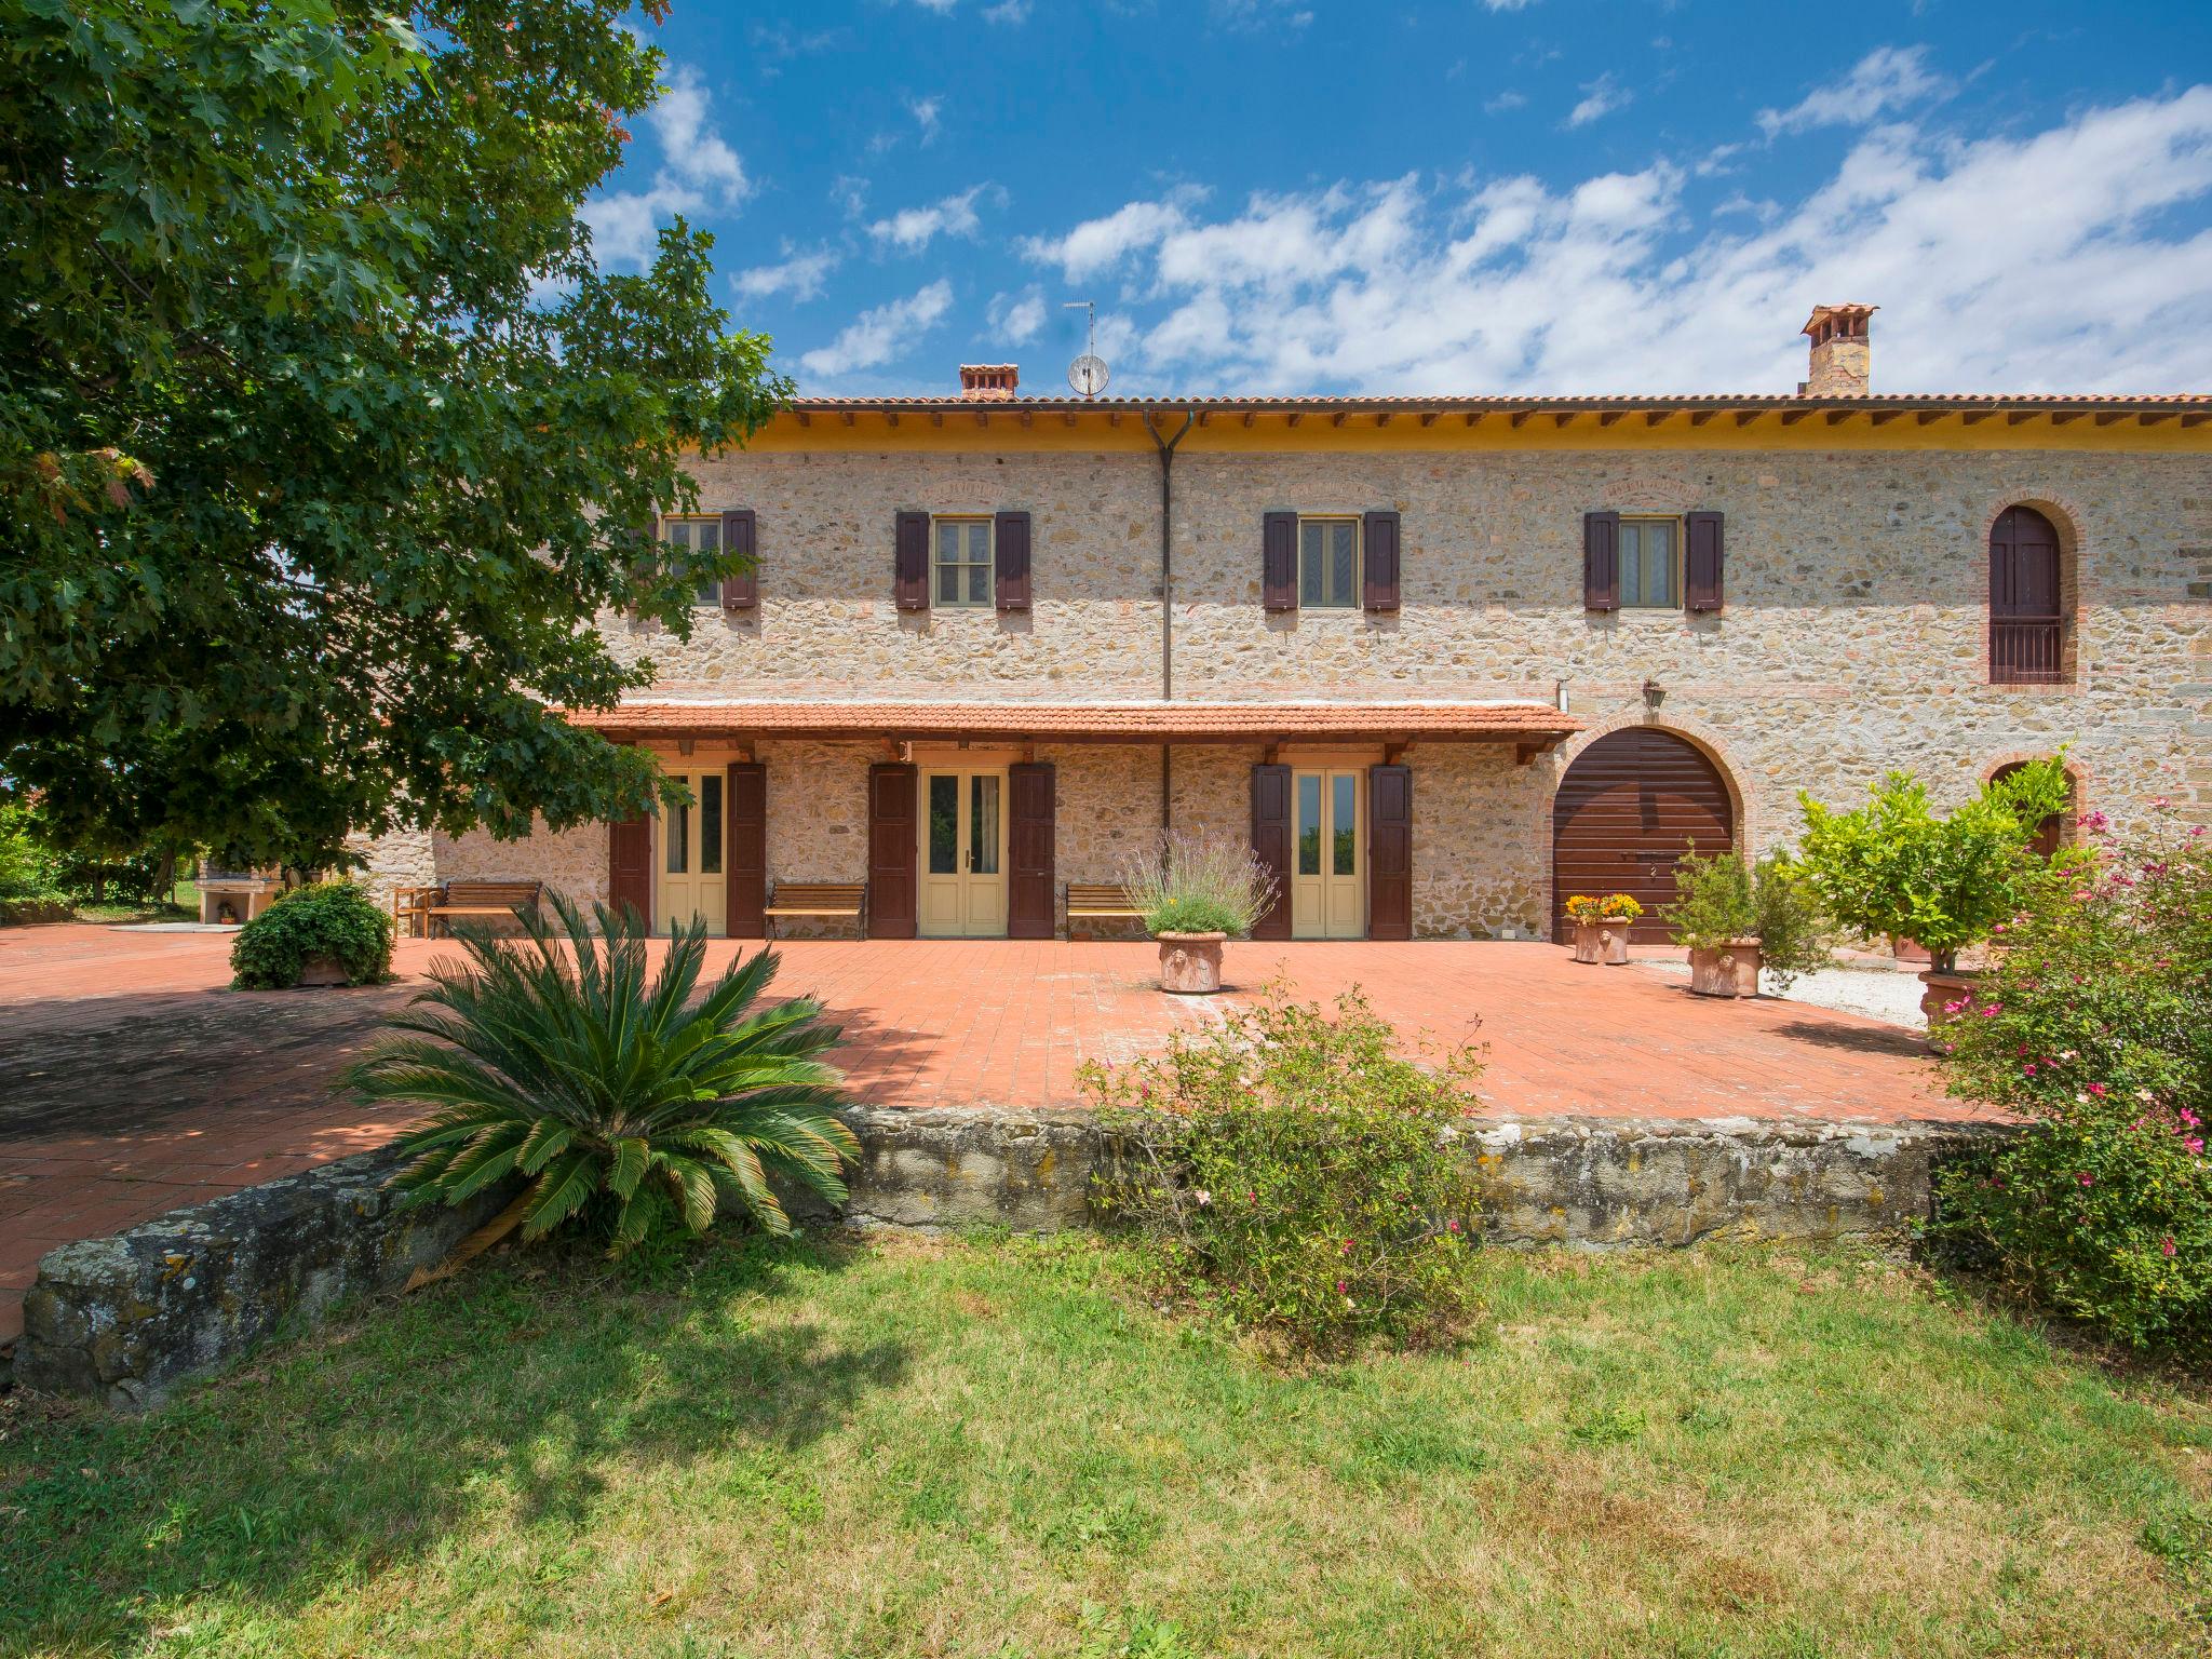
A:
{"label": "green lawn with dry patches in the foreground below the wall", "polygon": [[0,1650],[2203,1655],[2212,1405],[1878,1256],[1283,1376],[1088,1241],[478,1267],[0,1444]]}

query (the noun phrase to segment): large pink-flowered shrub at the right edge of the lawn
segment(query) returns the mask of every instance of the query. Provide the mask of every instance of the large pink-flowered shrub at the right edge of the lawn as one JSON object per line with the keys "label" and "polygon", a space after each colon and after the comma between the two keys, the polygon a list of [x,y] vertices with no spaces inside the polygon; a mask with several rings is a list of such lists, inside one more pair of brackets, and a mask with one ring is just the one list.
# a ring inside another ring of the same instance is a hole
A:
{"label": "large pink-flowered shrub at the right edge of the lawn", "polygon": [[1931,1237],[2130,1347],[2212,1354],[2212,836],[2081,830],[2095,865],[2004,925],[1944,1026],[1953,1093],[2028,1124],[1940,1175]]}

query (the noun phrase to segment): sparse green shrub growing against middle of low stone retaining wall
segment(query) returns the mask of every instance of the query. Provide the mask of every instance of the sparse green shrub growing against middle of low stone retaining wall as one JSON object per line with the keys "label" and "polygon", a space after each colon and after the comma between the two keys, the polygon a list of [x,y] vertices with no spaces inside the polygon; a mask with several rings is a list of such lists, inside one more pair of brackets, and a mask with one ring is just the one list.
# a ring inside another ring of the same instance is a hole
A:
{"label": "sparse green shrub growing against middle of low stone retaining wall", "polygon": [[1475,1307],[1478,1073],[1464,1046],[1400,1055],[1356,989],[1329,1015],[1270,987],[1161,1057],[1084,1068],[1117,1148],[1097,1199],[1206,1316],[1298,1354],[1431,1343]]}

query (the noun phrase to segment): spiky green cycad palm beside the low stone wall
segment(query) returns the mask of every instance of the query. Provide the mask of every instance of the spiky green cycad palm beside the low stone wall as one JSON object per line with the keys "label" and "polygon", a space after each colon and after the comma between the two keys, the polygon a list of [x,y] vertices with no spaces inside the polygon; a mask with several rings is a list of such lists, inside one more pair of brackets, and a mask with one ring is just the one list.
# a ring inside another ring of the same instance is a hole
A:
{"label": "spiky green cycad palm beside the low stone wall", "polygon": [[790,1232],[770,1175],[841,1203],[838,1170],[860,1148],[832,1117],[843,1073],[818,1057],[838,1029],[814,998],[752,1009],[774,951],[692,1002],[703,925],[670,940],[648,984],[633,909],[593,905],[593,929],[560,894],[551,905],[566,945],[524,911],[524,940],[462,929],[469,962],[431,964],[431,989],[392,1018],[416,1035],[349,1068],[369,1099],[434,1108],[400,1137],[414,1161],[396,1186],[460,1203],[520,1172],[526,1239],[586,1217],[613,1254],[677,1219],[706,1232],[723,1194]]}

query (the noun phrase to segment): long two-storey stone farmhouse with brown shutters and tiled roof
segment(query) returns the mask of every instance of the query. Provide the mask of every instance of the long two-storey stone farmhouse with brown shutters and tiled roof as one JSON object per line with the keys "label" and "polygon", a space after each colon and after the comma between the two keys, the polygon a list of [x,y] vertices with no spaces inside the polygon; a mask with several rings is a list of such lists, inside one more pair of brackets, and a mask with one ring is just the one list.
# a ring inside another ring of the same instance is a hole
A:
{"label": "long two-storey stone farmhouse with brown shutters and tiled roof", "polygon": [[801,398],[659,524],[752,575],[599,622],[655,686],[575,719],[692,805],[372,878],[1048,938],[1179,830],[1281,874],[1263,938],[1551,938],[1893,768],[2212,805],[2212,398],[1882,396],[1869,316],[1794,396]]}

